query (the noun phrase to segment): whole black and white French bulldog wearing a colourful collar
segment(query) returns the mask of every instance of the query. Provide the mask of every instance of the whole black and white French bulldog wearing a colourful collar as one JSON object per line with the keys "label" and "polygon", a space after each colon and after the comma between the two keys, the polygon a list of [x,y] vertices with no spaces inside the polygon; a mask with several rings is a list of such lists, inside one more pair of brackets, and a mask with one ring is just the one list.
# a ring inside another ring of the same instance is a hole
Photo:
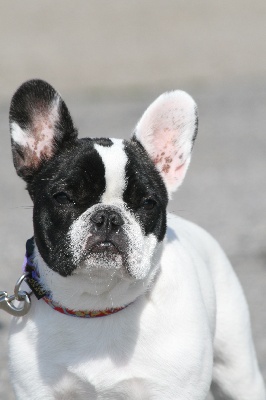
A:
{"label": "whole black and white French bulldog wearing a colourful collar", "polygon": [[33,288],[30,312],[11,323],[17,399],[203,400],[211,389],[265,400],[228,259],[166,212],[197,127],[194,100],[178,90],[148,107],[129,140],[78,139],[42,80],[14,94],[13,161],[34,204],[28,284],[43,292]]}

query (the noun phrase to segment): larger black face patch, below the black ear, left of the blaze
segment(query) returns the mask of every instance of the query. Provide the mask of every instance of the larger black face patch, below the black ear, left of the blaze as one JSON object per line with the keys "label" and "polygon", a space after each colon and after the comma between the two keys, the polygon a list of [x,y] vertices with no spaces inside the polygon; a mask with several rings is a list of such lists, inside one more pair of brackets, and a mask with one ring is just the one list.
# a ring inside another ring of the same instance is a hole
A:
{"label": "larger black face patch, below the black ear, left of the blaze", "polygon": [[69,250],[69,228],[100,201],[106,186],[104,176],[93,140],[81,139],[46,163],[29,185],[37,247],[49,267],[62,276],[76,268]]}

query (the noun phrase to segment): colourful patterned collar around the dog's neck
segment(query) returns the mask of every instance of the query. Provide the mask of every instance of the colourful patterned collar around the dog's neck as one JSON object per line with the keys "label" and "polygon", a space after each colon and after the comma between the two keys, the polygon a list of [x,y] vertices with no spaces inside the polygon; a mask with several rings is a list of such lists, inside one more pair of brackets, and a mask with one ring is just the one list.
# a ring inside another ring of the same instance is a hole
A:
{"label": "colourful patterned collar around the dog's neck", "polygon": [[28,286],[35,294],[38,300],[42,299],[46,304],[48,304],[55,311],[61,314],[69,315],[71,317],[79,318],[96,318],[105,317],[110,314],[115,314],[118,311],[123,310],[129,304],[123,307],[106,308],[105,310],[71,310],[69,308],[63,307],[61,304],[53,299],[52,293],[46,290],[40,281],[40,275],[37,266],[34,264],[34,238],[28,239],[26,242],[26,255],[23,262],[23,272],[27,273],[25,281]]}

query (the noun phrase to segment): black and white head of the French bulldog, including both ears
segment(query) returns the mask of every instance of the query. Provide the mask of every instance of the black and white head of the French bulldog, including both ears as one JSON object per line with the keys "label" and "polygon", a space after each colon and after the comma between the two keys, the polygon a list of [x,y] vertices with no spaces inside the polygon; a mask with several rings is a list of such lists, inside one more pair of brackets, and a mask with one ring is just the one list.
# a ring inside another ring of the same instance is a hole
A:
{"label": "black and white head of the French bulldog, including both ears", "polygon": [[[197,131],[194,101],[160,96],[133,137],[77,139],[68,109],[47,83],[24,83],[10,109],[14,165],[34,202],[34,237],[46,264],[145,278],[166,231],[168,196],[182,182]],[[106,278],[106,277],[105,277]]]}

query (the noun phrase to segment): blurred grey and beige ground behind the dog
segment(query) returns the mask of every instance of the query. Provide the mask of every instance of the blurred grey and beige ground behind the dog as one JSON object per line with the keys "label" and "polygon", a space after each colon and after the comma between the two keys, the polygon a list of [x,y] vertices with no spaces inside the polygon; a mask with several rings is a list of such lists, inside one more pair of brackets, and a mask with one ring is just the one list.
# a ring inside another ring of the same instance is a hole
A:
{"label": "blurred grey and beige ground behind the dog", "polygon": [[[32,236],[32,205],[13,169],[8,109],[31,78],[61,93],[80,136],[128,137],[166,90],[195,98],[199,134],[169,208],[227,252],[266,378],[266,2],[0,0],[0,290],[9,292]],[[0,398],[14,400],[9,322],[0,310]]]}

